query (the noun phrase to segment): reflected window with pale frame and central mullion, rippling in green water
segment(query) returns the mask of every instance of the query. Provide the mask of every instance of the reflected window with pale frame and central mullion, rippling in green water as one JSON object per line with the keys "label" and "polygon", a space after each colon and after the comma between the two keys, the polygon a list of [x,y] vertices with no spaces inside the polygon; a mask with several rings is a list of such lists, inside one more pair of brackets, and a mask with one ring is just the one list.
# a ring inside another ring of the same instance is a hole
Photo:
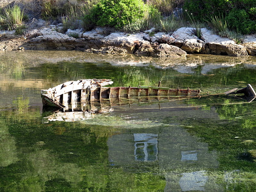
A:
{"label": "reflected window with pale frame and central mullion, rippling in green water", "polygon": [[134,156],[137,161],[157,160],[157,134],[134,133]]}

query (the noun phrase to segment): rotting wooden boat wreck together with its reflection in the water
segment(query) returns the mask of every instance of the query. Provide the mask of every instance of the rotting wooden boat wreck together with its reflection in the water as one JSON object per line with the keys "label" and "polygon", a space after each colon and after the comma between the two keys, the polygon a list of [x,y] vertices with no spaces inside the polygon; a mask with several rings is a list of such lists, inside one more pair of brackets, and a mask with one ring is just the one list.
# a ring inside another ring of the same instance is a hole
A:
{"label": "rotting wooden boat wreck together with its reflection in the water", "polygon": [[[221,94],[199,95],[200,90],[190,90],[189,88],[170,89],[168,87],[160,87],[160,82],[157,87],[103,87],[112,83],[113,81],[109,79],[85,79],[69,81],[48,90],[42,90],[41,97],[44,104],[44,112],[46,112],[46,116],[43,117],[43,123],[91,119],[97,114],[113,112],[115,107],[129,105],[131,108],[134,106],[133,104],[137,104],[140,107],[158,104],[159,110],[170,110],[171,108],[177,108],[177,106],[162,109],[160,104],[177,100],[189,100],[189,98],[199,99],[240,93],[244,95],[236,95],[235,97],[246,99],[247,102],[251,102],[256,98],[256,93],[250,84],[243,89],[238,90],[236,88]],[[214,103],[212,105],[214,106]],[[204,105],[194,107],[199,108],[204,107]],[[52,112],[51,115],[49,115],[50,111]]]}

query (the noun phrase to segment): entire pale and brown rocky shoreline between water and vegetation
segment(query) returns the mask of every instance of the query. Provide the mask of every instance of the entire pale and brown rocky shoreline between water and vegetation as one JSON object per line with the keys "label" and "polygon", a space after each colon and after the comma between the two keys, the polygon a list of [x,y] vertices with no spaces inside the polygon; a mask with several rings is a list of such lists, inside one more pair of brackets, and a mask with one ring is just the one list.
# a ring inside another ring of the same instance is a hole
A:
{"label": "entire pale and brown rocky shoreline between water and vegetation", "polygon": [[201,29],[201,39],[193,35],[194,28],[185,27],[172,34],[154,33],[154,28],[128,34],[106,27],[86,32],[68,29],[66,34],[62,34],[58,32],[60,28],[61,24],[34,29],[26,37],[15,36],[13,31],[0,32],[0,51],[23,50],[21,47],[24,47],[25,50],[77,50],[170,58],[184,58],[189,53],[256,56],[256,34],[244,36],[243,42],[236,44],[229,38],[212,34],[207,28]]}

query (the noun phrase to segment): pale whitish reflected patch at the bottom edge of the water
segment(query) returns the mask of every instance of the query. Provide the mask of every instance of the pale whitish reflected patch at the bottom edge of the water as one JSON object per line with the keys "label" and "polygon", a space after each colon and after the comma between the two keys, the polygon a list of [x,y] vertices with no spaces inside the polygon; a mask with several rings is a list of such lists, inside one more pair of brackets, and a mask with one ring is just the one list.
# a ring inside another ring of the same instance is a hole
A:
{"label": "pale whitish reflected patch at the bottom edge of the water", "polygon": [[208,180],[205,171],[182,173],[179,184],[181,191],[204,191],[204,185]]}

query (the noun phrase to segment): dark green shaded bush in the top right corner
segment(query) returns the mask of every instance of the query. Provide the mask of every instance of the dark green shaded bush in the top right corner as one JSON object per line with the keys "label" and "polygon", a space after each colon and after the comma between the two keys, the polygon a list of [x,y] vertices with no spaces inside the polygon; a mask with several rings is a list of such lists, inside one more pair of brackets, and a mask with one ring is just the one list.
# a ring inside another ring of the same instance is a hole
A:
{"label": "dark green shaded bush in the top right corner", "polygon": [[196,20],[211,20],[209,15],[223,16],[230,31],[243,34],[256,32],[255,0],[185,0],[184,9],[192,12]]}

